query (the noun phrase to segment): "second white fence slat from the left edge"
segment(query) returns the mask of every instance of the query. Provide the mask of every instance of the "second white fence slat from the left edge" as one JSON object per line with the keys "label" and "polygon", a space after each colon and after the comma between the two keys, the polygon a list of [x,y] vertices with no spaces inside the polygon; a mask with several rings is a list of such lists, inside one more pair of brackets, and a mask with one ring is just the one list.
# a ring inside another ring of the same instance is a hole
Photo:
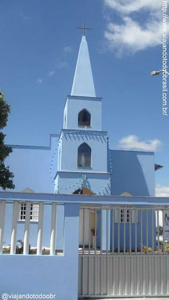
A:
{"label": "second white fence slat from the left edge", "polygon": [[15,254],[16,252],[16,234],[17,234],[17,222],[19,218],[19,202],[13,202],[13,215],[12,215],[12,233],[10,242],[10,254]]}

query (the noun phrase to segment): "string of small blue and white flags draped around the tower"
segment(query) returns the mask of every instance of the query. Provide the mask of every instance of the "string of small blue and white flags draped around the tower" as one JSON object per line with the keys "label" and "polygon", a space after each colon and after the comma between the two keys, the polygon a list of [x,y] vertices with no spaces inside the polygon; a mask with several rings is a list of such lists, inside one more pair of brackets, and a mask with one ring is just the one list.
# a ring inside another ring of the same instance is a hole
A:
{"label": "string of small blue and white flags draped around the tower", "polygon": [[[77,130],[77,131],[64,131],[63,132],[63,137],[64,137],[64,135],[65,134],[78,134],[78,133],[82,133],[82,132],[89,132],[89,133],[92,133],[92,135],[94,135],[94,136],[99,136],[99,137],[102,137],[102,138],[104,138],[105,137],[105,135],[101,135],[100,133],[96,133],[96,132],[93,132],[93,131],[88,131],[88,130]],[[61,137],[60,138],[60,140],[62,140],[63,138]],[[109,139],[108,139],[108,136],[106,136],[106,139],[107,139],[107,142],[108,142],[108,158],[109,158],[109,161],[110,161],[110,175],[112,175],[112,158],[111,158],[111,152],[110,152],[110,144],[109,144]],[[60,146],[60,143],[61,143],[61,141],[59,141],[58,142],[58,145],[57,146]],[[57,153],[57,149],[55,149],[54,150],[54,153],[53,153],[53,155],[52,155],[52,159],[51,159],[51,163],[50,163],[50,178],[52,179],[53,178],[53,176],[52,176],[52,166],[53,166],[53,160],[54,160],[54,156],[56,155],[56,153]],[[111,180],[111,178],[109,178],[108,180]],[[52,182],[54,182],[54,179],[52,179]],[[89,188],[89,184],[88,184],[88,180],[87,180],[87,177],[86,177],[86,175],[85,174],[82,174],[81,175],[81,178],[79,179],[79,180],[77,180],[74,184],[71,184],[71,185],[69,185],[69,186],[66,186],[66,187],[59,187],[59,186],[57,186],[57,188],[59,188],[59,189],[69,189],[69,188],[74,188],[75,189],[75,191],[76,191],[76,187],[77,187],[77,185],[78,185],[78,188],[82,188],[83,186],[85,186],[84,185],[84,183],[85,183],[85,185],[86,185],[86,187],[91,191],[91,192],[93,192],[90,188]],[[54,184],[54,185],[56,185],[56,184]],[[80,185],[80,186],[79,186]],[[109,186],[109,183],[107,183],[107,185],[106,186],[104,186],[100,191],[104,191],[104,188],[110,188],[110,186]],[[97,192],[93,192],[94,194],[99,194],[99,195],[101,195],[101,192],[100,191],[97,191]]]}

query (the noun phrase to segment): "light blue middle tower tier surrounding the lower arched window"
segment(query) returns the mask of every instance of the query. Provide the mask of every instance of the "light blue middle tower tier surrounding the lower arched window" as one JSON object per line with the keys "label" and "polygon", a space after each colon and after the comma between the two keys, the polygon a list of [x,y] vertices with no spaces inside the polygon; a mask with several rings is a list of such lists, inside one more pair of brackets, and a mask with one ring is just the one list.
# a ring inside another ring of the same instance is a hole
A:
{"label": "light blue middle tower tier surrounding the lower arched window", "polygon": [[[65,134],[63,134],[65,132]],[[70,132],[70,133],[67,133]],[[104,136],[98,136],[97,133]],[[105,131],[74,131],[62,130],[59,139],[61,147],[61,171],[93,171],[107,172],[107,132]],[[91,148],[91,167],[77,166],[77,151],[82,143],[87,143]]]}

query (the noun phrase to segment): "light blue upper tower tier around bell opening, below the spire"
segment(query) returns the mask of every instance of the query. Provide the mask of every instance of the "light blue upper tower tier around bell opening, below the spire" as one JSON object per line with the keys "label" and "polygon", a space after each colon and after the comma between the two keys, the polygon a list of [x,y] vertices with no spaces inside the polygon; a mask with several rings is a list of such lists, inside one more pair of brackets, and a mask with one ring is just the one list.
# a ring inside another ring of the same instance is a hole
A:
{"label": "light blue upper tower tier around bell opening, below the spire", "polygon": [[66,129],[85,129],[84,126],[78,126],[78,113],[86,108],[91,114],[91,126],[89,130],[102,130],[102,98],[68,96],[64,109],[66,115]]}

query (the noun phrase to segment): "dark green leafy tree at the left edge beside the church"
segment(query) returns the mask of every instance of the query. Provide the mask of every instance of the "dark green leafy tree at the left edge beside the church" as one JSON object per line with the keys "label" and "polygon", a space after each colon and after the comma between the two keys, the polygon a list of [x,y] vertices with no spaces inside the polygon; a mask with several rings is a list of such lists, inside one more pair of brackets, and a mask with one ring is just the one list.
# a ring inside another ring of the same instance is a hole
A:
{"label": "dark green leafy tree at the left edge beside the church", "polygon": [[[10,105],[4,100],[4,95],[0,90],[0,130],[6,126]],[[14,174],[10,172],[9,166],[5,166],[6,157],[12,152],[12,148],[4,144],[5,134],[0,132],[0,186],[6,188],[15,188],[12,178]]]}

